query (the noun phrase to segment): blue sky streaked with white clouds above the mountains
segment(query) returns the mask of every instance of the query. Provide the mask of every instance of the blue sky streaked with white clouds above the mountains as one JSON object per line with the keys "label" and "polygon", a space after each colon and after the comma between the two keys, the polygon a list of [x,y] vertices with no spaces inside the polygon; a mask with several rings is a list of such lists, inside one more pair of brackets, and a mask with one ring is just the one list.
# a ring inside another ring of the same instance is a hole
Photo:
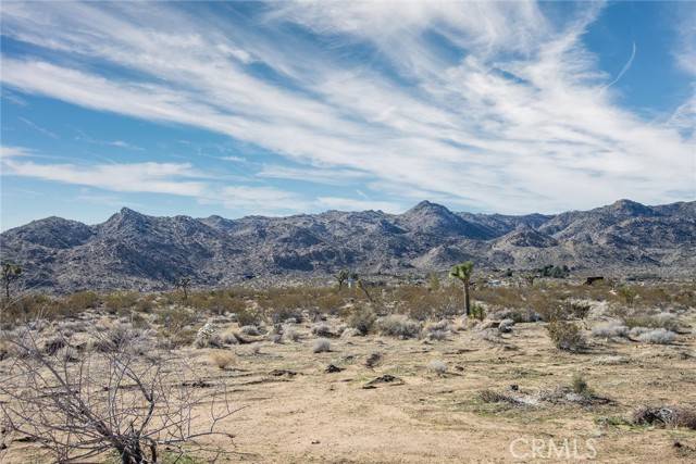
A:
{"label": "blue sky streaked with white clouds above the mountains", "polygon": [[0,4],[0,227],[696,199],[696,2]]}

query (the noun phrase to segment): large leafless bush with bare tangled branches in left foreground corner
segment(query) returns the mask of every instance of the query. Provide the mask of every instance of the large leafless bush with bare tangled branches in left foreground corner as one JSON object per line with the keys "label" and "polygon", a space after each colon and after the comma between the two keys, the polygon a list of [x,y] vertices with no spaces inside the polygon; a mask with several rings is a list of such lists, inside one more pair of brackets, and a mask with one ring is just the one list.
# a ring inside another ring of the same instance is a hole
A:
{"label": "large leafless bush with bare tangled branches in left foreground corner", "polygon": [[[0,384],[3,423],[12,437],[38,442],[54,462],[116,453],[124,464],[154,463],[164,450],[179,457],[184,448],[188,455],[221,453],[201,441],[206,437],[232,440],[216,431],[235,412],[226,393],[182,381],[192,375],[182,360],[111,351],[69,361],[44,354],[29,331],[10,341],[21,355]],[[209,417],[194,422],[206,405]]]}

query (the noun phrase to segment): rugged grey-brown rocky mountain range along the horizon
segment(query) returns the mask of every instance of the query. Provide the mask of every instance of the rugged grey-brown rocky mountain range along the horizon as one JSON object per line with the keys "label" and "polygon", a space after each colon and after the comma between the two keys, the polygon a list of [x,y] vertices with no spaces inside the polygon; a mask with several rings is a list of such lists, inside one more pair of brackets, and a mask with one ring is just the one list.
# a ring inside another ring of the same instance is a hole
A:
{"label": "rugged grey-brown rocky mountain range along the horizon", "polygon": [[47,217],[0,234],[2,260],[27,288],[171,288],[249,279],[425,274],[473,260],[477,268],[567,265],[576,274],[688,275],[696,268],[696,201],[647,206],[630,200],[555,215],[456,213],[423,201],[382,211],[287,217],[156,217],[122,209],[86,225]]}

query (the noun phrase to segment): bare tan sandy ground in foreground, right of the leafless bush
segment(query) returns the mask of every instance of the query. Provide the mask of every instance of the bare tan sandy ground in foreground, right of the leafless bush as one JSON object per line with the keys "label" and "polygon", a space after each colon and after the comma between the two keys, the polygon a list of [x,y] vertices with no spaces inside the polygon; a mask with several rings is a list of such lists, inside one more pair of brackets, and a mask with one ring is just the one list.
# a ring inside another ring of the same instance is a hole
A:
{"label": "bare tan sandy ground in foreground, right of the leafless bush", "polygon": [[[337,325],[338,321],[330,321]],[[693,323],[693,321],[692,321]],[[476,330],[457,331],[448,340],[398,340],[368,336],[331,339],[332,351],[315,354],[310,325],[300,325],[298,342],[262,341],[228,350],[235,364],[221,371],[210,350],[182,354],[200,365],[210,383],[226,385],[235,406],[222,429],[236,436],[238,454],[227,462],[268,463],[496,463],[696,462],[696,431],[632,426],[642,404],[696,406],[696,340],[682,334],[672,346],[593,339],[589,353],[560,352],[540,323],[519,324],[502,342]],[[370,368],[365,359],[382,353]],[[598,364],[601,356],[625,363]],[[427,368],[447,365],[445,375]],[[328,364],[344,371],[326,373]],[[288,369],[295,375],[273,375]],[[568,386],[582,373],[609,404],[512,405],[485,403],[484,389],[518,391]],[[401,381],[364,385],[389,374]],[[679,442],[681,447],[675,446]],[[1,462],[33,462],[12,446]]]}

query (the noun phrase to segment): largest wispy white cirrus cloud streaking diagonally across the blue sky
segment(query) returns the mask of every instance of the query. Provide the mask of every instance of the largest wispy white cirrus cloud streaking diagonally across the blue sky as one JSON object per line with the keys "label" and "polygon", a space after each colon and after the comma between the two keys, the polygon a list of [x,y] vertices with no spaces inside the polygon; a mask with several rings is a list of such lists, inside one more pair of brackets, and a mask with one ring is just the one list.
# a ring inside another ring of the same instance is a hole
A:
{"label": "largest wispy white cirrus cloud streaking diagonally across the blue sky", "polygon": [[[693,131],[617,103],[582,41],[601,4],[581,7],[551,21],[535,2],[284,2],[251,17],[194,16],[170,3],[12,3],[4,34],[55,58],[3,57],[2,81],[202,127],[304,166],[263,166],[260,178],[359,178],[385,210],[424,195],[500,212],[693,196],[693,179],[680,176],[694,163]],[[48,171],[24,172],[48,179]],[[188,191],[231,208],[366,205],[197,185]]]}

